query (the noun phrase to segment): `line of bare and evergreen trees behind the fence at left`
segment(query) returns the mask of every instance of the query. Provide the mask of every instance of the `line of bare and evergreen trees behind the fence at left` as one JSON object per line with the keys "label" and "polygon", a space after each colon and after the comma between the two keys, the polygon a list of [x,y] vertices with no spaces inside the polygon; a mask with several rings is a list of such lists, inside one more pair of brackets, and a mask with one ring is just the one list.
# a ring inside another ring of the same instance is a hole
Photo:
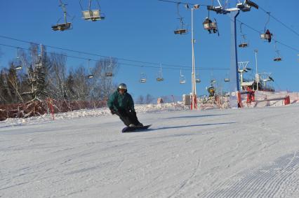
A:
{"label": "line of bare and evergreen trees behind the fence at left", "polygon": [[[69,69],[70,68],[70,69]],[[67,55],[48,53],[43,45],[17,49],[17,57],[0,71],[0,104],[28,101],[106,100],[115,88],[117,59],[99,59],[89,66],[67,66]]]}

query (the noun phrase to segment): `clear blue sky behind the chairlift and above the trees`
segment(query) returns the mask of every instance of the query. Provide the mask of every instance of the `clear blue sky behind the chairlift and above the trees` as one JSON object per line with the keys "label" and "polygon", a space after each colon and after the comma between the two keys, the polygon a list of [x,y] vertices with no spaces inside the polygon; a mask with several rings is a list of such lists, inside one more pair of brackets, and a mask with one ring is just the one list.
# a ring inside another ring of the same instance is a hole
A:
{"label": "clear blue sky behind the chairlift and above the trees", "polygon": [[[114,81],[126,83],[128,91],[135,97],[140,94],[151,94],[154,97],[171,94],[180,96],[191,92],[191,33],[186,35],[173,34],[173,31],[179,27],[175,3],[157,0],[102,0],[99,2],[102,13],[105,13],[105,20],[89,22],[81,19],[79,1],[65,0],[63,2],[67,3],[67,12],[70,15],[68,19],[73,24],[73,29],[69,31],[53,31],[51,29],[51,25],[56,24],[58,18],[62,17],[58,0],[1,2],[0,50],[2,55],[0,68],[7,66],[8,61],[13,60],[16,53],[15,48],[5,45],[20,48],[29,47],[28,43],[4,38],[4,36],[8,36],[57,48],[116,57],[119,59],[119,71]],[[211,1],[190,0],[184,2],[211,4]],[[298,92],[299,1],[255,0],[255,3],[260,6],[259,10],[252,8],[250,12],[241,12],[237,18],[244,22],[242,32],[246,34],[249,43],[248,48],[238,48],[238,60],[250,62],[248,66],[255,69],[254,50],[258,49],[258,71],[272,73],[276,90]],[[236,1],[230,1],[230,8],[234,7],[235,4]],[[214,1],[214,6],[217,6],[216,1]],[[277,56],[274,42],[263,41],[258,33],[258,31],[260,33],[264,31],[268,20],[265,10],[269,11],[270,15],[276,19],[270,17],[267,29],[270,29],[274,34],[274,39],[279,41],[276,47],[283,59],[281,62],[273,61],[273,58]],[[180,15],[184,17],[184,22],[191,32],[190,10],[186,10],[181,5]],[[223,80],[228,76],[228,70],[202,69],[230,68],[230,18],[228,15],[217,15],[210,12],[210,17],[215,18],[218,22],[220,36],[217,36],[216,34],[208,34],[208,31],[204,30],[202,26],[207,15],[206,6],[194,10],[195,66],[196,69],[199,69],[197,74],[199,75],[198,78],[201,79],[201,83],[197,83],[198,95],[208,94],[206,86],[210,84],[212,78],[215,78],[224,90],[228,87]],[[72,19],[72,17],[74,18]],[[284,23],[286,27],[280,22]],[[238,44],[241,41],[239,27],[240,23],[238,22]],[[47,48],[47,51],[63,52],[69,56],[86,59],[100,58],[55,48]],[[163,82],[155,80],[159,69],[152,67],[159,67],[160,63],[165,79]],[[67,59],[69,67],[80,64],[87,67],[86,60],[71,57]],[[92,64],[94,62],[91,62]],[[167,69],[169,65],[175,65],[175,67]],[[186,66],[190,69],[187,69]],[[180,69],[186,77],[185,84],[179,83]],[[147,83],[139,83],[140,73],[146,74]],[[246,75],[249,78],[254,73],[255,71]]]}

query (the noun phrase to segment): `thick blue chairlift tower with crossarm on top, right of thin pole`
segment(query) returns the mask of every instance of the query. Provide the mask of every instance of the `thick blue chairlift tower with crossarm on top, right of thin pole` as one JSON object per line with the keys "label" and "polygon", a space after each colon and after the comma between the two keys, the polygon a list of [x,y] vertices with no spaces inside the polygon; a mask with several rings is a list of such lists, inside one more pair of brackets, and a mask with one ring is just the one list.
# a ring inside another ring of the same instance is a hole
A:
{"label": "thick blue chairlift tower with crossarm on top, right of thin pole", "polygon": [[230,107],[238,108],[241,106],[240,101],[240,86],[239,86],[239,73],[238,73],[238,56],[237,56],[237,30],[236,30],[236,19],[240,13],[248,12],[251,7],[258,9],[258,5],[250,0],[245,0],[243,3],[238,0],[236,7],[225,8],[218,0],[219,6],[208,6],[208,10],[213,10],[219,14],[230,14],[231,19],[231,52],[230,52]]}

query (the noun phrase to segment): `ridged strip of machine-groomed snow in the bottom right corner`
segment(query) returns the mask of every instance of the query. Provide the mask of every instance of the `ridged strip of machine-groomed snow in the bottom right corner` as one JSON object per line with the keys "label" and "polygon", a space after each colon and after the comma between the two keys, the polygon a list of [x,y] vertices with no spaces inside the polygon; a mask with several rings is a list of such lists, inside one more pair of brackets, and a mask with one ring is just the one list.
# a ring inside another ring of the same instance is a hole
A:
{"label": "ridged strip of machine-groomed snow in the bottom right corner", "polygon": [[298,190],[298,169],[298,153],[284,155],[269,166],[237,174],[204,197],[284,197],[284,191]]}

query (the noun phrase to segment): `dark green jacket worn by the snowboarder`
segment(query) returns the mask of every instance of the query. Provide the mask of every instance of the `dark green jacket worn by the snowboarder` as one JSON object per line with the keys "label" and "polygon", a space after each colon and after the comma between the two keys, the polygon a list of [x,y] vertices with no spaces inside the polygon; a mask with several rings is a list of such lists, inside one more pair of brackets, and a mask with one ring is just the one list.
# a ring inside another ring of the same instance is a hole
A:
{"label": "dark green jacket worn by the snowboarder", "polygon": [[119,110],[131,110],[135,111],[134,101],[131,97],[131,94],[124,92],[120,94],[119,91],[114,92],[110,95],[108,99],[108,107],[113,108],[115,111]]}

